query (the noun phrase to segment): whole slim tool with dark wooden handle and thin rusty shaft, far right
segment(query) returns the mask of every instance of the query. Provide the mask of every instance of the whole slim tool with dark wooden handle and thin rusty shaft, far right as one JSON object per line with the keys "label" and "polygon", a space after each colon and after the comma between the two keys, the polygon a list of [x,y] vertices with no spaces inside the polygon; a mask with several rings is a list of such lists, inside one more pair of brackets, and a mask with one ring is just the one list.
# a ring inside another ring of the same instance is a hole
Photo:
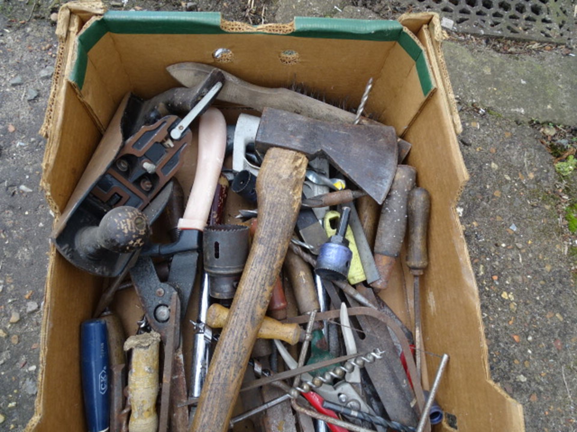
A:
{"label": "whole slim tool with dark wooden handle and thin rusty shaft, far right", "polygon": [[422,378],[424,345],[421,328],[421,291],[419,279],[429,264],[427,256],[427,230],[429,226],[430,195],[425,188],[414,188],[409,194],[409,243],[406,263],[413,275],[413,298],[415,320],[415,347],[417,348],[417,371]]}

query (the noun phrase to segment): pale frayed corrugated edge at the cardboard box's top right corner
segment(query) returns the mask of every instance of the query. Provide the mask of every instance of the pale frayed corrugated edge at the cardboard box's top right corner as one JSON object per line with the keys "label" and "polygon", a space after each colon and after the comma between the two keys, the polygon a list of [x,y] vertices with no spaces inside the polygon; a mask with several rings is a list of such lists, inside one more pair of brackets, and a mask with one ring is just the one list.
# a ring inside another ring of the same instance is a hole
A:
{"label": "pale frayed corrugated edge at the cardboard box's top right corner", "polygon": [[455,93],[453,93],[453,87],[447,71],[447,63],[445,63],[443,48],[441,46],[445,36],[443,34],[443,29],[441,29],[439,14],[432,12],[410,13],[402,14],[397,19],[403,26],[415,33],[415,35],[422,25],[429,25],[429,33],[436,54],[434,59],[429,56],[429,62],[434,63],[430,66],[432,67],[433,72],[437,72],[434,74],[434,77],[437,79],[437,86],[441,87],[441,84],[443,86],[443,92],[445,95],[444,100],[447,102],[447,109],[451,116],[455,133],[459,135],[463,131],[463,126],[459,117],[459,111],[455,102]]}

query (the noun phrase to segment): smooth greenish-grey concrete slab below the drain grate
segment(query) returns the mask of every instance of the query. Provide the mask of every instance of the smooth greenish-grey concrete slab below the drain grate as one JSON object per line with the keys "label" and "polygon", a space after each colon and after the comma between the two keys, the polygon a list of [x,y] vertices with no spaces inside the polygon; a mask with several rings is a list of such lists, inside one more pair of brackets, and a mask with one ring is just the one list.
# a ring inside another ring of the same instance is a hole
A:
{"label": "smooth greenish-grey concrete slab below the drain grate", "polygon": [[497,54],[445,42],[443,52],[456,97],[516,120],[577,123],[577,57]]}

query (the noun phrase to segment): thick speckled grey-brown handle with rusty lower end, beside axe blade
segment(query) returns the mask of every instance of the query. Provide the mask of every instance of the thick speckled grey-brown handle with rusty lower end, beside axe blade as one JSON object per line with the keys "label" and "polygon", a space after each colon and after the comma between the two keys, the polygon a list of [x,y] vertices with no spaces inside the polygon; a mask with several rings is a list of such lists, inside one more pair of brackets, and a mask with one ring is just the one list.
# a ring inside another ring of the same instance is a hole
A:
{"label": "thick speckled grey-brown handle with rusty lower end, beside axe blade", "polygon": [[407,228],[407,199],[415,185],[417,170],[409,165],[399,165],[395,180],[381,209],[379,228],[374,241],[374,260],[381,278],[371,286],[376,290],[386,289],[392,269],[400,254],[404,233]]}

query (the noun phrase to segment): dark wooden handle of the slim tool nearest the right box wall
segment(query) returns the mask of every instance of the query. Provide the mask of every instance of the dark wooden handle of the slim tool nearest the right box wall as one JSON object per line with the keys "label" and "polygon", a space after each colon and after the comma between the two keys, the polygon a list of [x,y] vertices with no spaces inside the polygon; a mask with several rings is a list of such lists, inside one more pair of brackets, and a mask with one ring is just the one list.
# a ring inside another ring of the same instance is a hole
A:
{"label": "dark wooden handle of the slim tool nearest the right box wall", "polygon": [[429,228],[431,198],[425,188],[414,188],[409,194],[409,244],[407,266],[414,275],[422,275],[429,264],[427,231]]}

